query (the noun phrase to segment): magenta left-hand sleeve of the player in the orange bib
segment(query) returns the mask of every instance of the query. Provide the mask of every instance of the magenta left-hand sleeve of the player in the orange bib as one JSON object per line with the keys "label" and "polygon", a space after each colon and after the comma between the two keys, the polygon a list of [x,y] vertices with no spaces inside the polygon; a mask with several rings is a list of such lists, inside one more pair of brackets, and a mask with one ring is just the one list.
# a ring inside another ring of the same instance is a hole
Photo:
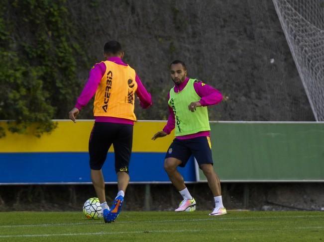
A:
{"label": "magenta left-hand sleeve of the player in the orange bib", "polygon": [[90,99],[95,95],[98,85],[105,75],[106,65],[105,63],[96,64],[90,71],[89,79],[85,84],[80,96],[77,99],[75,107],[81,110],[84,106],[88,104]]}

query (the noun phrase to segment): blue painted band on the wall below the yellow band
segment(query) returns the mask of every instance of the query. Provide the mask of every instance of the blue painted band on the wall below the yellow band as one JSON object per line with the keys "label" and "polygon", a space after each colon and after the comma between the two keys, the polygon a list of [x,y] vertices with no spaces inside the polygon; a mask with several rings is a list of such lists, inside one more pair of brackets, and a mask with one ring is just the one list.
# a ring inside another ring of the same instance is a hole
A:
{"label": "blue painted band on the wall below the yellow band", "polygon": [[[164,153],[133,153],[130,182],[169,182],[164,171]],[[0,184],[90,183],[87,152],[0,153]],[[105,181],[115,183],[114,154],[108,153],[103,167]],[[193,159],[179,168],[186,181],[196,181]]]}

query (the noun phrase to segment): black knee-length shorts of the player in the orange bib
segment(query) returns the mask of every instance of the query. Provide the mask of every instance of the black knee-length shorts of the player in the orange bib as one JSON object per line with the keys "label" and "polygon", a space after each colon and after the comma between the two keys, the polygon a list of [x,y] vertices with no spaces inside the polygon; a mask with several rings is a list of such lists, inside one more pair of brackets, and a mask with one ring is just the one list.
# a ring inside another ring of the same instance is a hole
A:
{"label": "black knee-length shorts of the player in the orange bib", "polygon": [[133,143],[133,125],[96,122],[90,134],[90,168],[100,170],[106,161],[108,150],[113,145],[115,171],[128,173]]}

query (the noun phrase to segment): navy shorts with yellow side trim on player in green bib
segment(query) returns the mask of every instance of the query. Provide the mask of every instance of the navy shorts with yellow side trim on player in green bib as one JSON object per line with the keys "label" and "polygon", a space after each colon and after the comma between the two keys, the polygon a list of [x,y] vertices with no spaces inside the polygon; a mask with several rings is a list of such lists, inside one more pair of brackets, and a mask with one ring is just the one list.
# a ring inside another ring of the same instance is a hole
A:
{"label": "navy shorts with yellow side trim on player in green bib", "polygon": [[184,167],[192,155],[196,158],[199,166],[206,163],[213,164],[211,138],[209,136],[188,140],[175,138],[165,155],[165,159],[176,158],[182,161],[179,166]]}

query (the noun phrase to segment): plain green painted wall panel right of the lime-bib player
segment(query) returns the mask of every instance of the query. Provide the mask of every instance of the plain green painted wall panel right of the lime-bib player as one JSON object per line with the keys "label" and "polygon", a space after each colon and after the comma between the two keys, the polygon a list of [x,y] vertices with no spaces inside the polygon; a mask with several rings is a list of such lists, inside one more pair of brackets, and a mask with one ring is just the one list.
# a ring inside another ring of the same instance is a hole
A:
{"label": "plain green painted wall panel right of the lime-bib player", "polygon": [[324,181],[323,122],[211,122],[211,130],[221,181]]}

